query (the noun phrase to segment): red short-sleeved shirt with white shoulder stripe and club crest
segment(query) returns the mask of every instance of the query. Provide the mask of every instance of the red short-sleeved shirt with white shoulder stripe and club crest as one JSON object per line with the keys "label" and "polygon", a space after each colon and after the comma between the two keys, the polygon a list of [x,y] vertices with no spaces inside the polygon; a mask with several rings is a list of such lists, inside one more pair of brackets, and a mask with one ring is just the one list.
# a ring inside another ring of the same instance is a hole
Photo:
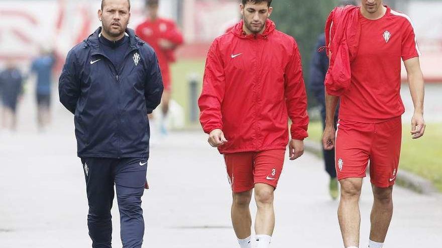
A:
{"label": "red short-sleeved shirt with white shoulder stripe and club crest", "polygon": [[361,37],[352,84],[341,97],[340,119],[378,123],[400,116],[401,59],[420,56],[409,17],[387,7],[378,20],[359,14]]}

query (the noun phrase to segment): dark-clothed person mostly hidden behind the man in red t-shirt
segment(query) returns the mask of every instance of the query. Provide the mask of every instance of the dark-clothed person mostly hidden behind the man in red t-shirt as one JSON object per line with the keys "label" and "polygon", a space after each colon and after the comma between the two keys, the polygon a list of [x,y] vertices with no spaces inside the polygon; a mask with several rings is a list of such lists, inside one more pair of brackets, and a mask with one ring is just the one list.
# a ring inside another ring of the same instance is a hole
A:
{"label": "dark-clothed person mostly hidden behind the man in red t-shirt", "polygon": [[[356,0],[341,0],[340,6],[346,5],[358,5]],[[310,84],[309,88],[313,97],[320,107],[320,116],[322,123],[322,130],[325,127],[325,87],[324,80],[325,74],[328,70],[328,57],[325,50],[321,49],[325,46],[325,34],[319,35],[317,40],[317,45],[313,50],[313,56],[310,65]],[[338,121],[339,106],[335,113],[335,128]],[[322,147],[322,155],[325,164],[325,171],[330,176],[330,182],[328,184],[328,190],[330,196],[335,200],[339,195],[338,180],[336,179],[336,169],[335,169],[335,149],[324,150]]]}

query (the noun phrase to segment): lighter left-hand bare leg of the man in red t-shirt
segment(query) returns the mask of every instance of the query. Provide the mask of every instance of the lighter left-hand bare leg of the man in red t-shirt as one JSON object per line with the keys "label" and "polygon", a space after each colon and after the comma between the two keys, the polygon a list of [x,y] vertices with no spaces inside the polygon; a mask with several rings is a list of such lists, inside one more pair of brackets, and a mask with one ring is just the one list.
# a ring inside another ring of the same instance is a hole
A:
{"label": "lighter left-hand bare leg of the man in red t-shirt", "polygon": [[362,178],[346,178],[341,183],[341,200],[338,208],[338,219],[345,247],[359,247],[359,228],[361,212],[359,197],[361,195]]}

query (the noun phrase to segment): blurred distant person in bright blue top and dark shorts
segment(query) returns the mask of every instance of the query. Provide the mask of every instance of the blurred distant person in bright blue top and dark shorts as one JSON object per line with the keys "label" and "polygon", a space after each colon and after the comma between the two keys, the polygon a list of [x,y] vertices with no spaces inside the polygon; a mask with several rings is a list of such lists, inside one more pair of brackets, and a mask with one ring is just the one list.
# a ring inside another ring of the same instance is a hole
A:
{"label": "blurred distant person in bright blue top and dark shorts", "polygon": [[31,64],[31,73],[37,77],[36,100],[37,100],[37,127],[39,131],[45,131],[51,122],[51,85],[52,69],[55,65],[55,56],[47,48],[40,49],[40,55]]}

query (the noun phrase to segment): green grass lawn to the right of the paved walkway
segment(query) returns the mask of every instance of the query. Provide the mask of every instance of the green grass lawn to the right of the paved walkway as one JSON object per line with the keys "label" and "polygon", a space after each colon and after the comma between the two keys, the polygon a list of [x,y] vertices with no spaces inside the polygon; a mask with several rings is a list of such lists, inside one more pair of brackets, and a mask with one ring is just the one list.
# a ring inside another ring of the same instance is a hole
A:
{"label": "green grass lawn to the right of the paved walkway", "polygon": [[[411,139],[410,125],[402,128],[402,150],[400,169],[410,171],[430,180],[442,192],[442,123],[429,123],[425,135]],[[309,140],[320,142],[321,123],[311,122],[308,126]]]}

